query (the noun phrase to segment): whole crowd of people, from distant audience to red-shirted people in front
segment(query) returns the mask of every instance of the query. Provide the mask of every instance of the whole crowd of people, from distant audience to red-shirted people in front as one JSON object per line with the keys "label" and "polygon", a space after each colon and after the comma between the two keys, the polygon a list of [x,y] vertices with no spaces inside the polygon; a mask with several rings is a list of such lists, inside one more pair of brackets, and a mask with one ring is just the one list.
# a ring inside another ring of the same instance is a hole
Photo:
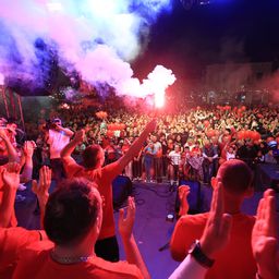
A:
{"label": "whole crowd of people, from distant audience to red-shirted people in front", "polygon": [[[16,124],[1,119],[0,278],[150,278],[132,232],[133,197],[126,214],[120,210],[126,262],[119,260],[111,183],[121,173],[173,184],[183,175],[214,187],[210,211],[195,216],[187,215],[180,191],[184,208],[170,250],[182,263],[171,279],[279,277],[275,192],[265,192],[256,217],[241,213],[253,195],[255,165],[277,162],[277,109],[196,108],[153,119],[125,111],[101,119],[89,111],[59,112],[27,129],[22,147]],[[57,185],[49,195],[51,180]],[[27,181],[41,230],[16,227],[15,195]]]}

